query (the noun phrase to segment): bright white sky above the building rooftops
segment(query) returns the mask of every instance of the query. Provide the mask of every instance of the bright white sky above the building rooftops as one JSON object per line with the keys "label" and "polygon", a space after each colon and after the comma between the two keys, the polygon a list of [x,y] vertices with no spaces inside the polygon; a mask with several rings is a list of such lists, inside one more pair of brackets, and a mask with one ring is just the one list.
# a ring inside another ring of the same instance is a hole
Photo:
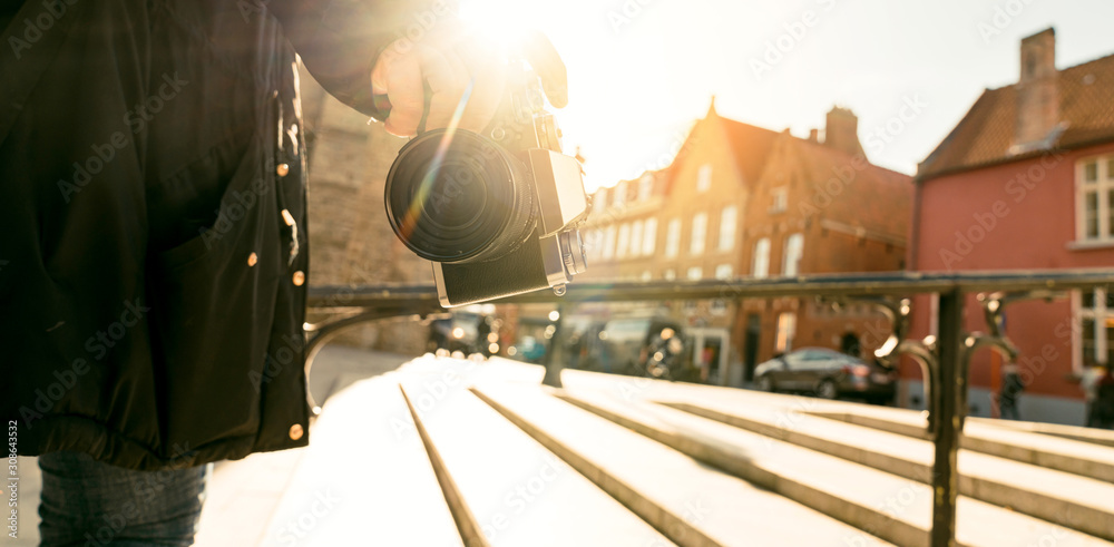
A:
{"label": "bright white sky above the building rooftops", "polygon": [[[911,175],[984,88],[1017,80],[1020,38],[1055,27],[1059,68],[1114,53],[1110,0],[463,3],[557,46],[569,74],[558,123],[589,192],[668,165],[713,95],[722,116],[801,137],[849,107],[870,160]],[[907,100],[920,114],[886,129]]]}

